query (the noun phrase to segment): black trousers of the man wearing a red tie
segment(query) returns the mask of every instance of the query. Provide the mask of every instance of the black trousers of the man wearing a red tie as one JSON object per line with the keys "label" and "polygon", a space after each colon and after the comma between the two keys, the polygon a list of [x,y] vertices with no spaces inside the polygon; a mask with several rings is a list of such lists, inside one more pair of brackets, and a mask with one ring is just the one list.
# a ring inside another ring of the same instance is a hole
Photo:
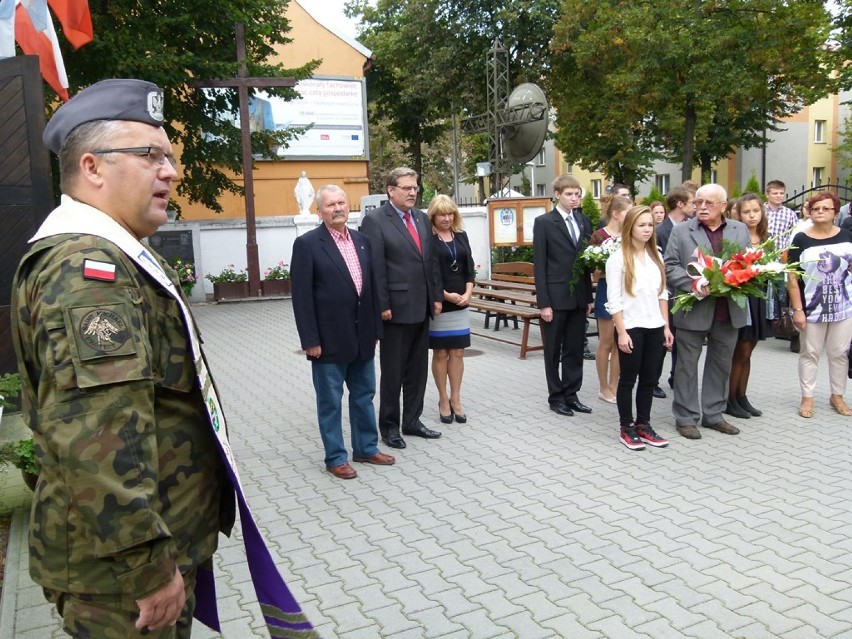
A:
{"label": "black trousers of the man wearing a red tie", "polygon": [[[414,427],[423,414],[429,373],[429,318],[418,324],[384,325],[379,347],[379,432],[382,438]],[[399,394],[402,391],[402,419]]]}

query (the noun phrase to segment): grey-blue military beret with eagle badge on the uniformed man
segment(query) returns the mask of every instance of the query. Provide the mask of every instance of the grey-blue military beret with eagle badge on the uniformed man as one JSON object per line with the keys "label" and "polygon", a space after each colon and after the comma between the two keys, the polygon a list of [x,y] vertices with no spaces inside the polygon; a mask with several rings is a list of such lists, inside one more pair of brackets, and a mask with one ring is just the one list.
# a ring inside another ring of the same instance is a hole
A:
{"label": "grey-blue military beret with eagle badge on the uniformed man", "polygon": [[144,80],[96,82],[57,109],[44,128],[44,145],[58,155],[71,131],[95,120],[132,120],[163,126],[163,90]]}

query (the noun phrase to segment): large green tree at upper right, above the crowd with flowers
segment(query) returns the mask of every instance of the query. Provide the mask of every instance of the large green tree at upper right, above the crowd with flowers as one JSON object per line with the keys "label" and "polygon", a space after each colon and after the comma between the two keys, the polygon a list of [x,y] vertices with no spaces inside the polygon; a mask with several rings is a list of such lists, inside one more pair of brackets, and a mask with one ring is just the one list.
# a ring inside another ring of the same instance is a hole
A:
{"label": "large green tree at upper right, above the crowd with flowers", "polygon": [[[655,159],[700,163],[761,143],[830,93],[838,52],[811,0],[563,0],[548,91],[568,161],[631,183]],[[619,171],[622,171],[619,174]]]}

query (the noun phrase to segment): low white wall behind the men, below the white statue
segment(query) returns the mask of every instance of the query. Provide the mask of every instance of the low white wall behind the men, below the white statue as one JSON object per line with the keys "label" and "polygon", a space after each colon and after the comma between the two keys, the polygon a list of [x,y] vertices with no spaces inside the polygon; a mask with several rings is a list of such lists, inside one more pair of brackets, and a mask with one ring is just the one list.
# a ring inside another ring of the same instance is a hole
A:
{"label": "low white wall behind the men, below the white statue", "polygon": [[[470,237],[474,264],[478,265],[478,277],[491,274],[491,248],[488,234],[488,211],[484,206],[460,209],[464,227]],[[352,213],[349,227],[357,229],[360,213]],[[260,277],[264,271],[279,261],[290,264],[293,242],[296,238],[319,224],[316,215],[264,217],[257,220],[257,250]],[[237,271],[247,265],[246,225],[244,220],[212,220],[203,222],[169,222],[161,231],[192,231],[195,273],[199,282],[192,291],[191,300],[202,302],[213,295],[213,283],[204,276],[220,273],[233,264]]]}

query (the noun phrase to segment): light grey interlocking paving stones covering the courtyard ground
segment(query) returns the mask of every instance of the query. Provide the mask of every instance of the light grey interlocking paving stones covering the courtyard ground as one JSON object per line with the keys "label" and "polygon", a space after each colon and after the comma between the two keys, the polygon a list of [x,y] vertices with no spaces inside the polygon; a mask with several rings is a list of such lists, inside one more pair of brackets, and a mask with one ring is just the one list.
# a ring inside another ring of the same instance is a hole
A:
{"label": "light grey interlocking paving stones covering the courtyard ground", "polygon": [[[671,445],[634,452],[594,362],[581,394],[594,412],[560,417],[541,352],[522,361],[475,336],[468,423],[437,423],[430,383],[424,422],[444,436],[409,437],[395,466],[342,481],[323,468],[290,301],[194,312],[249,503],[326,639],[852,638],[852,420],[828,407],[825,362],[816,417],[796,415],[787,342],[755,351],[749,397],[765,413],[732,420],[739,436],[680,438],[669,393],[652,418]],[[26,574],[24,520],[0,638],[62,637]],[[223,537],[216,566],[223,636],[266,636],[241,542]]]}

